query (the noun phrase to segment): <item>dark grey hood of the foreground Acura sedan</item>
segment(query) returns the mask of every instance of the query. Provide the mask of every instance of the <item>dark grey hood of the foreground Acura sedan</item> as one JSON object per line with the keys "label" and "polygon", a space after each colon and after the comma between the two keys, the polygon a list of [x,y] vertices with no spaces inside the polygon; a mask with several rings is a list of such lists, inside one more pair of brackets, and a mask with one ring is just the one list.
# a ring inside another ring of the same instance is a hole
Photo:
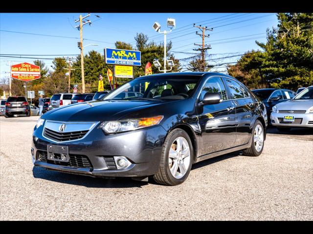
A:
{"label": "dark grey hood of the foreground Acura sedan", "polygon": [[154,100],[94,100],[71,104],[48,111],[42,118],[55,121],[110,121],[118,120],[137,110],[160,105]]}

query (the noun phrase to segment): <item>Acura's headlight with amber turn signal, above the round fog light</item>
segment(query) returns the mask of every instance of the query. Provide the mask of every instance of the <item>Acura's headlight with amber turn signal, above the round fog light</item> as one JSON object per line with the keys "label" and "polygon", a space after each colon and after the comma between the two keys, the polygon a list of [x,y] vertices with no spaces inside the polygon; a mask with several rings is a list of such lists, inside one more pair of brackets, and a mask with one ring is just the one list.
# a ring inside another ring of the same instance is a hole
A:
{"label": "Acura's headlight with amber turn signal, above the round fog light", "polygon": [[126,131],[132,131],[139,128],[146,128],[158,124],[162,120],[163,116],[149,117],[149,118],[137,118],[121,121],[109,121],[103,122],[100,128],[106,134],[120,133]]}

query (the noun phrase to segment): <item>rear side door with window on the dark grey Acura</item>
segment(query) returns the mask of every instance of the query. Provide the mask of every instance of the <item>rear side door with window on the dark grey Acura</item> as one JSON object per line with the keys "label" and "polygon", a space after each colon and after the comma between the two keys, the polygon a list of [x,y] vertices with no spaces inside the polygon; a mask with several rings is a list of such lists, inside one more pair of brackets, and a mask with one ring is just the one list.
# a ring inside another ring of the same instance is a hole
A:
{"label": "rear side door with window on the dark grey Acura", "polygon": [[236,110],[236,146],[244,145],[249,142],[253,122],[254,109],[256,103],[250,97],[246,88],[231,78],[224,78],[227,86],[229,98],[232,99]]}

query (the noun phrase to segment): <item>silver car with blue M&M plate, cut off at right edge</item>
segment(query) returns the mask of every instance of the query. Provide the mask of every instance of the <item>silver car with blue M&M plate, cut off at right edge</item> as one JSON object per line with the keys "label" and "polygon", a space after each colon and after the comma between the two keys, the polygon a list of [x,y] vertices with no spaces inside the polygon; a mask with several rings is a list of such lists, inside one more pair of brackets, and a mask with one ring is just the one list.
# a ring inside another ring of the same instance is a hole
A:
{"label": "silver car with blue M&M plate, cut off at right edge", "polygon": [[273,106],[270,119],[279,131],[286,132],[291,127],[313,128],[313,86],[292,100]]}

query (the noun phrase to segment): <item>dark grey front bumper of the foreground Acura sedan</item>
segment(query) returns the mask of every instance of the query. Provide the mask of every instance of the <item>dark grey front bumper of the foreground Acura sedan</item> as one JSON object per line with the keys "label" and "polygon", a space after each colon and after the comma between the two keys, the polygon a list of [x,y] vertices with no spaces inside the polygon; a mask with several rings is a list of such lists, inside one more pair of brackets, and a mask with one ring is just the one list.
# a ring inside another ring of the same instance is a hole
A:
{"label": "dark grey front bumper of the foreground Acura sedan", "polygon": [[[167,134],[162,126],[156,125],[113,135],[105,135],[98,126],[90,130],[83,139],[65,143],[55,143],[46,139],[42,134],[43,126],[39,127],[34,131],[32,139],[34,165],[61,172],[100,177],[136,177],[157,173],[162,145]],[[48,144],[68,146],[70,161],[73,163],[61,165],[55,161],[43,160],[42,155],[46,154]],[[113,165],[115,164],[113,156],[125,156],[132,164],[125,169],[116,169]],[[87,157],[85,161],[89,160],[90,167],[81,166],[83,165],[81,158],[84,157]]]}

